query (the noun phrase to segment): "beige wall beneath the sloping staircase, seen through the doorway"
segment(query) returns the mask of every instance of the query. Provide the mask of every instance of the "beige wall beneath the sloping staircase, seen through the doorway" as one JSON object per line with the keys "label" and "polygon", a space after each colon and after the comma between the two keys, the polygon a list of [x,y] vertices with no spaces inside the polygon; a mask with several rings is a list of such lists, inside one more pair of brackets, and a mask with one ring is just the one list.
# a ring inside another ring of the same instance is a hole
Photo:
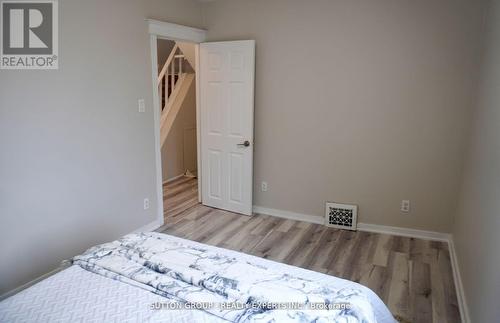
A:
{"label": "beige wall beneath the sloping staircase, seen through the doorway", "polygon": [[[192,45],[194,46],[194,45]],[[163,180],[196,172],[196,83],[193,81],[161,150]]]}

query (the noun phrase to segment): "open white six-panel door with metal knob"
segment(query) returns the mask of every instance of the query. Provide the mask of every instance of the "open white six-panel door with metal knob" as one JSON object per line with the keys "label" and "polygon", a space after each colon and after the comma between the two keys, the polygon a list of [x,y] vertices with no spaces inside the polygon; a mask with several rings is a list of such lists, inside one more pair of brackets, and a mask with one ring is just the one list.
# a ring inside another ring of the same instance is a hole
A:
{"label": "open white six-panel door with metal knob", "polygon": [[252,214],[255,41],[200,44],[205,205]]}

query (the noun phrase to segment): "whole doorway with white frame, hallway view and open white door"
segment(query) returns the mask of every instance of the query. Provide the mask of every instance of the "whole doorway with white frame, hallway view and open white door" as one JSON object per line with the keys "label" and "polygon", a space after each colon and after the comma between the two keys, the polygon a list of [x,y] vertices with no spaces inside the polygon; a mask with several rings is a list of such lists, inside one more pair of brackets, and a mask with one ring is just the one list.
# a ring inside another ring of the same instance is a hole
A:
{"label": "whole doorway with white frame, hallway view and open white door", "polygon": [[251,215],[255,41],[205,42],[205,30],[152,19],[148,29],[155,223],[200,202]]}

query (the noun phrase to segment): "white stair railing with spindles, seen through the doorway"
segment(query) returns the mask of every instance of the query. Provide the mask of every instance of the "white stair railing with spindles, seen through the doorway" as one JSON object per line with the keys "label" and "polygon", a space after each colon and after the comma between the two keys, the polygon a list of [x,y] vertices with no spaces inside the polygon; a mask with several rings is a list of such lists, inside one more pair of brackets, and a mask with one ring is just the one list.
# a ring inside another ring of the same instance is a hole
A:
{"label": "white stair railing with spindles, seen through the doorway", "polygon": [[158,74],[158,94],[161,110],[165,109],[172,93],[182,76],[182,65],[184,64],[184,54],[177,44],[170,52],[165,64]]}

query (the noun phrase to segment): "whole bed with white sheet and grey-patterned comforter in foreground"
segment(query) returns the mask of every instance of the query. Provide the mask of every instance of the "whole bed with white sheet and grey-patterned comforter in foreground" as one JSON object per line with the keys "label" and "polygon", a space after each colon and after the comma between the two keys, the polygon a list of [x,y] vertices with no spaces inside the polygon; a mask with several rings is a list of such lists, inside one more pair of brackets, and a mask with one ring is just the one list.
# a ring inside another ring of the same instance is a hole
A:
{"label": "whole bed with white sheet and grey-patterned comforter in foreground", "polygon": [[72,262],[0,302],[0,322],[395,322],[360,284],[161,233]]}

